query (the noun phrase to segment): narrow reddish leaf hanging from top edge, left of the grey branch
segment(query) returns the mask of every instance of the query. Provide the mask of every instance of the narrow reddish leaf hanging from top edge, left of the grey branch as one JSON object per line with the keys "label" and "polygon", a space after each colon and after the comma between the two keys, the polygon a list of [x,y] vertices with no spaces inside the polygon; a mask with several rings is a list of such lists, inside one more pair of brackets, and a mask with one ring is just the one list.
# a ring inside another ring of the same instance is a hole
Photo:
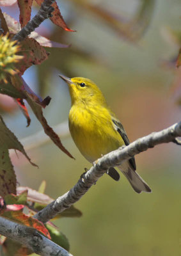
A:
{"label": "narrow reddish leaf hanging from top edge, left of the grey branch", "polygon": [[24,27],[28,21],[31,19],[31,5],[33,0],[17,0],[19,5],[19,22],[21,28]]}

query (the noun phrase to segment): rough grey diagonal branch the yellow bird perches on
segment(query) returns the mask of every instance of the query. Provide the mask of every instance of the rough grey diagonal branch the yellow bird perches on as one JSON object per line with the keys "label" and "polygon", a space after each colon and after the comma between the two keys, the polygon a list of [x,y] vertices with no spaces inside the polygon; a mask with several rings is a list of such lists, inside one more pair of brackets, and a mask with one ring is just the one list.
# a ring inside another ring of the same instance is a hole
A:
{"label": "rough grey diagonal branch the yellow bird perches on", "polygon": [[181,122],[162,131],[153,132],[148,136],[139,138],[130,143],[127,147],[124,146],[106,154],[98,159],[97,163],[95,163],[88,172],[81,175],[81,179],[78,180],[77,184],[75,184],[70,191],[59,196],[54,202],[47,205],[47,207],[40,212],[37,212],[34,218],[46,223],[60,212],[70,207],[70,205],[77,202],[111,166],[120,165],[123,161],[130,159],[148,148],[153,148],[155,145],[168,142],[175,143],[175,138],[179,136],[181,136]]}

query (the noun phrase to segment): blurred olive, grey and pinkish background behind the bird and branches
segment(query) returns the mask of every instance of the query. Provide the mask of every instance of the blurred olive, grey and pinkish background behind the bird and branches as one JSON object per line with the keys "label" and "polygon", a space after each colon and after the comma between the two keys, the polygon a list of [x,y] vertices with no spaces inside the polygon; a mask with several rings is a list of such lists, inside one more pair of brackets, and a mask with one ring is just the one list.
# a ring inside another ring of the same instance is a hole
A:
{"label": "blurred olive, grey and pinkish background behind the bird and branches", "polygon": [[[172,61],[179,49],[178,38],[172,33],[180,29],[179,0],[57,2],[68,26],[77,32],[63,32],[50,21],[43,23],[38,31],[72,47],[47,49],[51,52],[49,60],[24,74],[33,90],[42,97],[52,97],[51,104],[43,111],[50,125],[67,120],[70,109],[68,88],[59,79],[59,72],[95,81],[122,121],[130,141],[180,121],[177,99],[181,76]],[[125,24],[136,17],[144,3],[150,4],[141,20],[145,31],[135,40],[132,35],[142,25],[132,26],[129,32]],[[103,13],[107,10],[111,17],[116,17],[117,23],[102,19],[88,4]],[[14,12],[16,8],[14,6]],[[114,24],[126,28],[128,35],[123,36]],[[6,99],[4,103],[3,99]],[[7,98],[2,98],[1,107],[9,111],[4,114],[4,121],[19,139],[42,130],[30,109],[31,125],[26,128],[19,109],[15,109],[11,100],[8,106],[6,102]],[[90,168],[90,163],[81,156],[70,135],[62,142],[75,161],[51,141],[28,150],[39,169],[20,154],[19,159],[12,155],[21,186],[38,189],[44,179],[47,181],[45,192],[52,198],[74,186],[84,168]],[[169,143],[136,156],[138,173],[148,182],[152,194],[136,194],[123,175],[119,182],[107,175],[98,180],[75,204],[83,212],[81,218],[54,221],[68,237],[70,252],[79,256],[181,255],[180,152],[177,145]]]}

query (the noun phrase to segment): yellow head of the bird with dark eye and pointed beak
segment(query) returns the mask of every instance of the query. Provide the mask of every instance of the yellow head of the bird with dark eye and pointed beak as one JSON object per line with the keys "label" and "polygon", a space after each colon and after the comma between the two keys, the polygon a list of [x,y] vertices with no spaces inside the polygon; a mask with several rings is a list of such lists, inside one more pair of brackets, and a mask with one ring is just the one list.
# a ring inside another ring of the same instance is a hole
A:
{"label": "yellow head of the bird with dark eye and pointed beak", "polygon": [[106,100],[98,86],[88,78],[68,78],[59,75],[67,84],[72,99],[72,104],[83,102],[84,104],[106,104]]}

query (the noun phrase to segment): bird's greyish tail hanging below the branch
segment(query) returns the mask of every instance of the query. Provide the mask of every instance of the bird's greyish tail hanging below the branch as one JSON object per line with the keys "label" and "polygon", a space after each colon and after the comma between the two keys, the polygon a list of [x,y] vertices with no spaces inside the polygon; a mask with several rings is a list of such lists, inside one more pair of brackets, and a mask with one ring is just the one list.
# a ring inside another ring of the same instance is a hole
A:
{"label": "bird's greyish tail hanging below the branch", "polygon": [[124,162],[118,168],[122,171],[122,173],[127,177],[130,182],[130,185],[137,193],[152,192],[152,189],[149,188],[148,184],[146,184],[145,180],[143,180],[138,173],[131,168],[129,162]]}

